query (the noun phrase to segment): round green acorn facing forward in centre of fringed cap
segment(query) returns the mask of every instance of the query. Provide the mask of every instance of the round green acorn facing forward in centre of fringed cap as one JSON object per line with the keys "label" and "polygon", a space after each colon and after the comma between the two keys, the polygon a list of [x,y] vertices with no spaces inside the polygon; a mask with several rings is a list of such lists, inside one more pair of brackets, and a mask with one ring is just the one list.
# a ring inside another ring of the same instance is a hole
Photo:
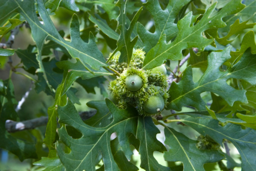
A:
{"label": "round green acorn facing forward in centre of fringed cap", "polygon": [[142,85],[142,78],[137,74],[129,75],[125,79],[125,86],[129,91],[137,92],[142,88]]}

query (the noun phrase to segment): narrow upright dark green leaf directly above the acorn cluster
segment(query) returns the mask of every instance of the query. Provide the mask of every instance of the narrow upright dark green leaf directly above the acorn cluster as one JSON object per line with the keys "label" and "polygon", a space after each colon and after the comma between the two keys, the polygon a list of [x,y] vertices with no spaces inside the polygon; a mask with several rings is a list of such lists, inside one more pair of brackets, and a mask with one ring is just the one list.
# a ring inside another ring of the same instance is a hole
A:
{"label": "narrow upright dark green leaf directly above the acorn cluster", "polygon": [[114,54],[117,51],[120,51],[120,57],[118,62],[126,62],[128,65],[132,59],[132,54],[133,54],[133,48],[138,40],[138,36],[136,36],[132,41],[131,41],[131,35],[134,29],[134,26],[139,18],[139,15],[142,11],[142,8],[135,14],[130,26],[128,29],[125,27],[125,22],[126,22],[126,3],[127,1],[122,1],[119,0],[117,2],[117,6],[120,9],[120,15],[118,16],[118,29],[120,30],[120,36],[119,39],[117,40],[117,48],[113,52],[113,54],[109,57],[108,61],[114,56]]}

